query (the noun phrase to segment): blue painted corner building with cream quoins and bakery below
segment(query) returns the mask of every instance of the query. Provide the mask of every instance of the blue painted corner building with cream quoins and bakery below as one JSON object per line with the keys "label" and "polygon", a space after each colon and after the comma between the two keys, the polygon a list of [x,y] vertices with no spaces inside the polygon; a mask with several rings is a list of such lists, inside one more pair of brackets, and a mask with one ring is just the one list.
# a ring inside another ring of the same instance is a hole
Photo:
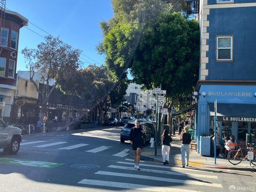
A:
{"label": "blue painted corner building with cream quoins and bakery below", "polygon": [[[245,141],[256,132],[256,0],[200,0],[201,59],[196,139],[214,130]],[[202,94],[203,93],[203,94]]]}

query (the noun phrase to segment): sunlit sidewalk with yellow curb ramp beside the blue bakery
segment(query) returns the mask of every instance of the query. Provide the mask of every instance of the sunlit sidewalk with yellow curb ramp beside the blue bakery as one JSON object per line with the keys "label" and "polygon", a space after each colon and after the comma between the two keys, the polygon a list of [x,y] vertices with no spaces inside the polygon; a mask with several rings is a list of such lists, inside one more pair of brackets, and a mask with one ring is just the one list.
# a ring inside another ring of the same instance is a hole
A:
{"label": "sunlit sidewalk with yellow curb ramp beside the blue bakery", "polygon": [[[181,166],[182,165],[181,153],[180,153],[181,141],[180,141],[178,132],[176,132],[175,135],[172,135],[172,139],[173,141],[171,142],[169,163],[174,164],[176,166]],[[157,155],[155,155],[155,147],[150,148],[150,144],[149,144],[148,146],[142,149],[141,159],[146,161],[154,161],[154,162],[162,163],[163,157],[162,157],[161,148],[162,146],[157,147]],[[130,156],[133,157],[133,151],[131,151]],[[198,154],[197,151],[194,149],[193,151],[190,150],[190,153],[189,153],[189,166],[256,171],[256,166],[254,165],[250,166],[249,161],[242,161],[238,165],[232,165],[231,163],[228,162],[227,158],[217,157],[216,164],[214,164],[214,156],[213,157],[201,156],[201,154]]]}

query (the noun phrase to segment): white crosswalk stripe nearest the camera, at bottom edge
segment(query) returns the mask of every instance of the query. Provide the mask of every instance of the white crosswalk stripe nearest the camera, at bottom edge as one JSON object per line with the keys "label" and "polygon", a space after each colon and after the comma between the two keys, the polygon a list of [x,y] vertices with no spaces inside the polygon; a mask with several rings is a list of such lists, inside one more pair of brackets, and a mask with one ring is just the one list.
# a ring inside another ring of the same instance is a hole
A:
{"label": "white crosswalk stripe nearest the camera, at bottom edge", "polygon": [[136,189],[136,190],[145,190],[145,191],[156,191],[156,192],[196,192],[195,190],[186,190],[178,188],[167,188],[167,187],[155,187],[148,185],[138,185],[125,182],[114,182],[114,181],[102,181],[102,180],[92,180],[92,179],[83,179],[78,182],[83,185],[93,185],[93,186],[104,186],[104,187],[114,187],[114,188],[123,188],[123,189]]}

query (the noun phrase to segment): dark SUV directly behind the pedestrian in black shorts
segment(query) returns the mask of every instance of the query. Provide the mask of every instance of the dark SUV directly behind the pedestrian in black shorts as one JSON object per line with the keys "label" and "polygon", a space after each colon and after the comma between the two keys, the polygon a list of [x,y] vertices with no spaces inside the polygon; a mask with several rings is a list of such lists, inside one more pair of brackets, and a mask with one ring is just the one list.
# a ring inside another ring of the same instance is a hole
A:
{"label": "dark SUV directly behind the pedestrian in black shorts", "polygon": [[[130,132],[132,127],[135,126],[135,122],[129,122],[126,125],[124,125],[123,129],[120,133],[120,141],[124,143],[127,140],[130,140]],[[150,141],[150,138],[155,138],[155,125],[152,122],[142,122],[140,124],[143,130],[145,130],[145,137],[143,138],[143,145],[146,145],[147,142]]]}

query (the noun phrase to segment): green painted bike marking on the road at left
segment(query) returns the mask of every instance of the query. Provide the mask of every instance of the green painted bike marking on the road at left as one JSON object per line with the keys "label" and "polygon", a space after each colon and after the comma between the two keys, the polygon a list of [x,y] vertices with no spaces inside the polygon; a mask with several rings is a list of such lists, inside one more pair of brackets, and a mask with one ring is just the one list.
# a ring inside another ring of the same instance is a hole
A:
{"label": "green painted bike marking on the road at left", "polygon": [[64,163],[51,163],[51,162],[41,162],[41,161],[31,161],[27,159],[15,159],[15,158],[0,158],[0,163],[11,164],[11,165],[25,165],[41,168],[54,168]]}

